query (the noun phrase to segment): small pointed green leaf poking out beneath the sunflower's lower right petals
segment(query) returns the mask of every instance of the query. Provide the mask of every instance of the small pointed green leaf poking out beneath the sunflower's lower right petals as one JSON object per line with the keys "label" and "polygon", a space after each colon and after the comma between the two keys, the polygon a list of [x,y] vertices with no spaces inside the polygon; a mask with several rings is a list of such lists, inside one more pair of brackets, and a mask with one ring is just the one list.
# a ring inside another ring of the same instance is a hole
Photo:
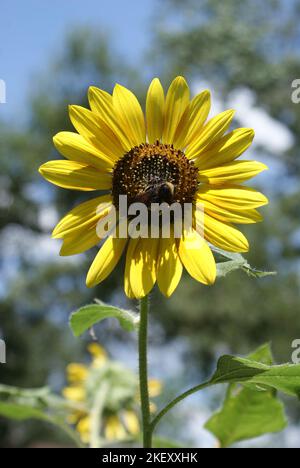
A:
{"label": "small pointed green leaf poking out beneath the sunflower's lower right petals", "polygon": [[217,247],[212,247],[212,250],[216,256],[217,274],[219,277],[224,277],[236,270],[242,270],[248,276],[254,278],[265,278],[266,276],[276,275],[276,272],[260,271],[251,267],[241,254],[226,252]]}

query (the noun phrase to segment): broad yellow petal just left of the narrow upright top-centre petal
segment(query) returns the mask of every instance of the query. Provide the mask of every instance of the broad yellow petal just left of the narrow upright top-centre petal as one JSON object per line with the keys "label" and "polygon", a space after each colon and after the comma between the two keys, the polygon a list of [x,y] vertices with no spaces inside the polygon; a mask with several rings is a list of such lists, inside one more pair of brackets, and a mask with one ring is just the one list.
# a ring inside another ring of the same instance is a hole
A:
{"label": "broad yellow petal just left of the narrow upright top-centre petal", "polygon": [[114,109],[124,132],[128,135],[131,146],[139,146],[146,142],[145,119],[142,108],[135,95],[116,85],[113,92]]}

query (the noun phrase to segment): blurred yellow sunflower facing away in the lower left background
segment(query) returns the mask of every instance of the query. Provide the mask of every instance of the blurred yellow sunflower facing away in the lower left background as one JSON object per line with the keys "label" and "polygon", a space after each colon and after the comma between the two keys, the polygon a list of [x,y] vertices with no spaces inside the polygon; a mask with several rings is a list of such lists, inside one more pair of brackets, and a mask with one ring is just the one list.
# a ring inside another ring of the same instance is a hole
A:
{"label": "blurred yellow sunflower facing away in the lower left background", "polygon": [[[101,436],[108,442],[137,438],[140,422],[137,413],[138,382],[135,376],[125,367],[116,367],[116,362],[109,359],[105,349],[99,344],[89,344],[88,351],[92,357],[89,365],[71,363],[66,369],[69,385],[62,393],[71,404],[78,405],[78,408],[72,409],[68,414],[67,422],[75,425],[83,443],[90,443],[90,414],[99,391],[99,383],[107,381],[110,385],[110,398],[107,398],[103,408]],[[125,375],[124,380],[122,376]],[[157,379],[150,379],[149,396],[155,399],[161,391],[162,383]],[[150,408],[151,411],[156,409],[153,401]]]}

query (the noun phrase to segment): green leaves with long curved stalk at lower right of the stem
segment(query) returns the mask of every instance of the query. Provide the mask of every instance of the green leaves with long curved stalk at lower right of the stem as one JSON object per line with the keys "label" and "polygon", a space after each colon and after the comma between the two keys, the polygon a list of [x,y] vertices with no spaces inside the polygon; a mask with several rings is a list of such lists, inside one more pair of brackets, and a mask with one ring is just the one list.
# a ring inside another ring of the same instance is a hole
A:
{"label": "green leaves with long curved stalk at lower right of the stem", "polygon": [[229,384],[224,404],[205,425],[218,438],[222,448],[286,428],[284,407],[277,398],[277,391],[299,400],[300,365],[273,365],[269,344],[245,359],[223,356],[213,377],[166,405],[152,421],[152,428],[155,429],[161,419],[185,398],[224,383]]}

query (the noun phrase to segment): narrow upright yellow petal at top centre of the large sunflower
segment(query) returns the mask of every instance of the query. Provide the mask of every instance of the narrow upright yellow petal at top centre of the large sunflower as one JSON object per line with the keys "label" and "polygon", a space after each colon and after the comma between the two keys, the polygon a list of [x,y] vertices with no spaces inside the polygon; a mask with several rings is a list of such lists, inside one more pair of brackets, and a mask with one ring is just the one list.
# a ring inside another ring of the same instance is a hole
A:
{"label": "narrow upright yellow petal at top centre of the large sunflower", "polygon": [[146,103],[147,133],[151,144],[161,140],[164,128],[164,106],[164,90],[159,79],[155,78],[150,84]]}

